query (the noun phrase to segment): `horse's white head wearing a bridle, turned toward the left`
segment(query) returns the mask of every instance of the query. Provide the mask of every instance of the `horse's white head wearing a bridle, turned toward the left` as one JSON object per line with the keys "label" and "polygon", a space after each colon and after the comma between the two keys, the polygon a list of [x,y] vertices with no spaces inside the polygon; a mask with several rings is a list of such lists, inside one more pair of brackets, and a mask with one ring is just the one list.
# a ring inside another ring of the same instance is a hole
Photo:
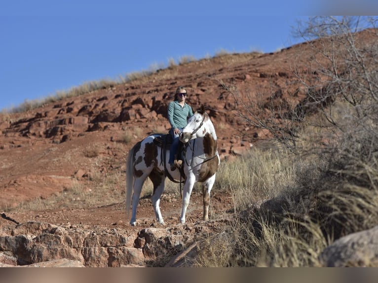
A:
{"label": "horse's white head wearing a bridle, turned toward the left", "polygon": [[213,123],[206,113],[205,107],[202,105],[189,118],[187,126],[181,132],[180,141],[187,143],[192,139],[203,138],[206,135],[212,135],[215,140],[217,139]]}

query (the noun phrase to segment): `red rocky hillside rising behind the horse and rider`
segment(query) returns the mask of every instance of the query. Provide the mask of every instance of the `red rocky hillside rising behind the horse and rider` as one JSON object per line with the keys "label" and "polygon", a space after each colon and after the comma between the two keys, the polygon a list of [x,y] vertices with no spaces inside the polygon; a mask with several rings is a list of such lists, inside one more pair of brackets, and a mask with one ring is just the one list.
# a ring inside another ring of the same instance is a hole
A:
{"label": "red rocky hillside rising behind the horse and rider", "polygon": [[[305,50],[302,44],[271,54],[203,59],[27,112],[0,115],[0,207],[62,191],[78,170],[101,173],[122,164],[136,141],[169,130],[167,105],[179,85],[188,88],[193,109],[202,104],[209,109],[222,158],[237,154],[254,142],[245,141],[244,134],[259,138],[264,132],[239,121],[225,85],[252,92],[274,84],[281,90],[277,99],[298,104],[305,95],[298,92],[291,65],[309,60]],[[106,158],[88,163],[85,155],[91,151],[112,157],[113,164]]]}

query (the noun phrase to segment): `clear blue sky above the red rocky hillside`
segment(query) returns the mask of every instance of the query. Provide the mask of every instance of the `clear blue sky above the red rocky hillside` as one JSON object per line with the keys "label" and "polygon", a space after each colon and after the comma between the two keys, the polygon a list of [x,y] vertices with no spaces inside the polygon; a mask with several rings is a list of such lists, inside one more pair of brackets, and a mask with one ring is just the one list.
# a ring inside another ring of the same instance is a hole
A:
{"label": "clear blue sky above the red rocky hillside", "polygon": [[305,2],[1,1],[0,110],[182,56],[293,45],[297,20],[323,11]]}

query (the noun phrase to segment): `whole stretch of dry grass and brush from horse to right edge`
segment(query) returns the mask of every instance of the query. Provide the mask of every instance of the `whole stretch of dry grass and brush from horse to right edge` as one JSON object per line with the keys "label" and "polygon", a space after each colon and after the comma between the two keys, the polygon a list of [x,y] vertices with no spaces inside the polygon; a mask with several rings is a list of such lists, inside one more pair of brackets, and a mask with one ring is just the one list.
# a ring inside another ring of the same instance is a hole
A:
{"label": "whole stretch of dry grass and brush from horse to right edge", "polygon": [[328,146],[255,148],[222,163],[215,189],[233,192],[235,221],[198,240],[197,266],[317,267],[333,241],[377,225],[378,138],[367,125]]}

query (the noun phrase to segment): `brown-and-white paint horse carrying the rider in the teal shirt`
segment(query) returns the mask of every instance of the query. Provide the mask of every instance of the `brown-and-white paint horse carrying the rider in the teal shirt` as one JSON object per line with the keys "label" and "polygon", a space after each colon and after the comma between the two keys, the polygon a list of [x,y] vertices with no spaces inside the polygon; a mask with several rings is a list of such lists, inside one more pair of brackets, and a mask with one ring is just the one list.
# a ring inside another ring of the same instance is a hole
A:
{"label": "brown-and-white paint horse carrying the rider in the teal shirt", "polygon": [[[129,217],[131,190],[132,213],[130,224],[135,226],[137,206],[143,183],[149,177],[153,184],[152,205],[157,221],[164,225],[160,212],[160,197],[164,191],[164,180],[180,180],[183,171],[185,183],[183,188],[181,223],[185,223],[185,214],[189,205],[190,194],[195,182],[202,183],[203,219],[209,219],[210,191],[215,182],[216,171],[220,163],[217,147],[217,135],[209,115],[202,105],[188,120],[187,126],[180,134],[184,143],[182,170],[171,171],[169,147],[167,150],[153,142],[159,135],[151,135],[137,142],[129,151],[126,164],[126,216]],[[165,156],[164,156],[165,155]]]}

